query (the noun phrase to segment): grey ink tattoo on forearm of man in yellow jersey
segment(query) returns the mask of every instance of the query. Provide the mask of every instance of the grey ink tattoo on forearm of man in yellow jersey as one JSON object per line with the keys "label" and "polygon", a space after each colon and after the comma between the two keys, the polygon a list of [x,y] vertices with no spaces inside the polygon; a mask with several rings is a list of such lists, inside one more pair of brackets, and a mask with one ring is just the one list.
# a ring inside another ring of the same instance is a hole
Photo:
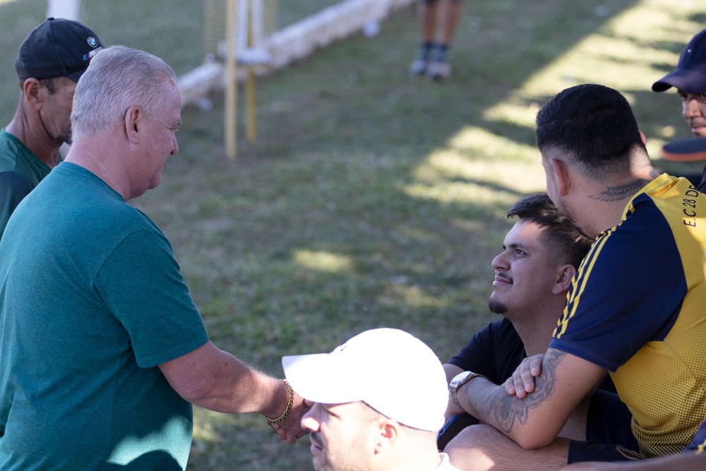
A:
{"label": "grey ink tattoo on forearm of man in yellow jersey", "polygon": [[556,388],[556,367],[566,355],[559,350],[549,350],[544,356],[542,374],[534,378],[534,391],[524,399],[509,395],[503,390],[501,394],[493,395],[485,401],[486,416],[495,417],[498,427],[509,434],[515,425],[515,420],[525,424],[530,415],[530,409],[539,407],[544,401],[554,395]]}

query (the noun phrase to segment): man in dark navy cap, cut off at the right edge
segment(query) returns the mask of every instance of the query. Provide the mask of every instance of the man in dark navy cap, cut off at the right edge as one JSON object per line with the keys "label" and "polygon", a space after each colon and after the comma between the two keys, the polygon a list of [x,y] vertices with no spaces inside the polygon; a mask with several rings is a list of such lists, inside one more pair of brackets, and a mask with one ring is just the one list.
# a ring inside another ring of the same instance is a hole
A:
{"label": "man in dark navy cap, cut off at the right edge", "polygon": [[[674,71],[653,83],[652,91],[664,92],[672,87],[681,97],[681,114],[691,133],[698,138],[706,137],[706,30],[691,38]],[[698,176],[695,180],[698,181]],[[706,167],[697,189],[706,192]]]}

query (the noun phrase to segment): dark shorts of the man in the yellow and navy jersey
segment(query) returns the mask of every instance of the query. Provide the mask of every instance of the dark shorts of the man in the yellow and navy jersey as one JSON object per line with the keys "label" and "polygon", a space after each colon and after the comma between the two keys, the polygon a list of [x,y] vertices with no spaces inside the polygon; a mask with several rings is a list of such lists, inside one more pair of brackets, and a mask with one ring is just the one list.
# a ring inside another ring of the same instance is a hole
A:
{"label": "dark shorts of the man in the yellow and navy jersey", "polygon": [[642,459],[635,451],[639,446],[631,419],[628,407],[616,393],[595,390],[588,406],[586,441],[570,441],[567,463]]}

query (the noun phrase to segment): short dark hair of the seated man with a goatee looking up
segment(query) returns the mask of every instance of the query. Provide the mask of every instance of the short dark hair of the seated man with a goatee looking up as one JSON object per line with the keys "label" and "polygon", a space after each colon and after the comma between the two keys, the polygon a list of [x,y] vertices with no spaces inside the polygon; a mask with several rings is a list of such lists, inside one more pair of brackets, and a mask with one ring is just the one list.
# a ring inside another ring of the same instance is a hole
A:
{"label": "short dark hair of the seated man with a goatee looking up", "polygon": [[508,211],[508,218],[513,216],[542,227],[539,240],[551,249],[549,253],[558,263],[570,263],[577,270],[593,244],[594,239],[582,234],[546,193],[535,193],[517,201]]}

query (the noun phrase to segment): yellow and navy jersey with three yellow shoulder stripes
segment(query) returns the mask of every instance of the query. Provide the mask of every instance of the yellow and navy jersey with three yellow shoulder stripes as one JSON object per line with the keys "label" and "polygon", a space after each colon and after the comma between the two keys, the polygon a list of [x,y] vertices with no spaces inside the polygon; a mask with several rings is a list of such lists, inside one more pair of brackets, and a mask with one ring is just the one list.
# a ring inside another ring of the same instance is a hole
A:
{"label": "yellow and navy jersey with three yellow shoulder stripes", "polygon": [[550,346],[611,371],[648,456],[706,417],[706,195],[662,174],[597,237]]}

